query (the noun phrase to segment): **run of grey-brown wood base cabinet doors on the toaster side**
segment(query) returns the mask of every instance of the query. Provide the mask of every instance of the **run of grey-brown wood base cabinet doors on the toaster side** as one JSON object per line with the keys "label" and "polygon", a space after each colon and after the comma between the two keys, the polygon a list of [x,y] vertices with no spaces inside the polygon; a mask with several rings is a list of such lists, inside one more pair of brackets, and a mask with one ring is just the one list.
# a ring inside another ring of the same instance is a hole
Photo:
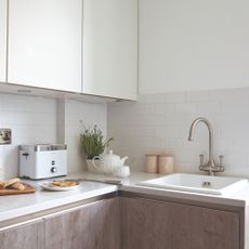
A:
{"label": "run of grey-brown wood base cabinet doors on the toaster side", "polygon": [[0,232],[0,249],[119,249],[118,198]]}

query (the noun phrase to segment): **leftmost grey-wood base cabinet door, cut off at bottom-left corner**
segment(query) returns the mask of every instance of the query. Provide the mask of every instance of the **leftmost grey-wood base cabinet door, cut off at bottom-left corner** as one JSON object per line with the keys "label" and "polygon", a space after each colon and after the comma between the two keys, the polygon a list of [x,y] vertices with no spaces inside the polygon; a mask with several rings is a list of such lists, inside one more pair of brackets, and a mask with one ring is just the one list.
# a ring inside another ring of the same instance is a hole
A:
{"label": "leftmost grey-wood base cabinet door, cut off at bottom-left corner", "polygon": [[43,249],[43,222],[16,226],[0,232],[1,249]]}

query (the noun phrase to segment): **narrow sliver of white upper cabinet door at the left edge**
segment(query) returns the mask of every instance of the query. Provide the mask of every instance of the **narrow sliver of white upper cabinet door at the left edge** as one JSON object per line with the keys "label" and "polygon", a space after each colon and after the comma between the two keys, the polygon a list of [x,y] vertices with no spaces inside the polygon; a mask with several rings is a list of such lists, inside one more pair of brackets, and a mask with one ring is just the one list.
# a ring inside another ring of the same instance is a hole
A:
{"label": "narrow sliver of white upper cabinet door at the left edge", "polygon": [[0,82],[6,77],[6,0],[0,0]]}

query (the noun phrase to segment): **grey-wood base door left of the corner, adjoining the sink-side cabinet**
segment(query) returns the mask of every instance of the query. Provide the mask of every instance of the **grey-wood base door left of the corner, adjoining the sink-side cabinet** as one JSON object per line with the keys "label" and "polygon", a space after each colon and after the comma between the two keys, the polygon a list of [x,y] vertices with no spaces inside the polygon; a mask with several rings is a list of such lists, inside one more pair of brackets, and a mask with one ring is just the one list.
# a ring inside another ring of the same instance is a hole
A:
{"label": "grey-wood base door left of the corner, adjoining the sink-side cabinet", "polygon": [[118,199],[44,219],[45,249],[118,249]]}

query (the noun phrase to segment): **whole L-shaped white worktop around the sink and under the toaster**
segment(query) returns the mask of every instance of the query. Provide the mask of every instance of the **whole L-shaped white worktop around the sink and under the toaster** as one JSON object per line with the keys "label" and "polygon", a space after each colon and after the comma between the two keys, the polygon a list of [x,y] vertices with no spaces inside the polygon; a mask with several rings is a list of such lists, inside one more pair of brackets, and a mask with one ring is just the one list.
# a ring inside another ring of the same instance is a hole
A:
{"label": "whole L-shaped white worktop around the sink and under the toaster", "polygon": [[[80,182],[80,186],[77,189],[69,192],[42,191],[41,187],[38,185],[42,181],[28,181],[28,183],[36,188],[35,194],[0,196],[0,222],[23,215],[28,215],[39,211],[44,211],[51,208],[56,208],[63,205],[73,204],[88,198],[115,193],[118,189],[131,193],[165,196],[166,198],[173,197],[211,204],[223,204],[235,207],[245,207],[249,204],[249,184],[241,191],[225,196],[183,193],[135,185],[141,181],[146,181],[158,176],[161,175],[133,172],[130,178],[123,180],[123,185],[121,186],[100,182],[82,181]],[[88,172],[80,172],[67,175],[67,179],[86,178],[95,180],[114,179],[108,175],[89,174]]]}

